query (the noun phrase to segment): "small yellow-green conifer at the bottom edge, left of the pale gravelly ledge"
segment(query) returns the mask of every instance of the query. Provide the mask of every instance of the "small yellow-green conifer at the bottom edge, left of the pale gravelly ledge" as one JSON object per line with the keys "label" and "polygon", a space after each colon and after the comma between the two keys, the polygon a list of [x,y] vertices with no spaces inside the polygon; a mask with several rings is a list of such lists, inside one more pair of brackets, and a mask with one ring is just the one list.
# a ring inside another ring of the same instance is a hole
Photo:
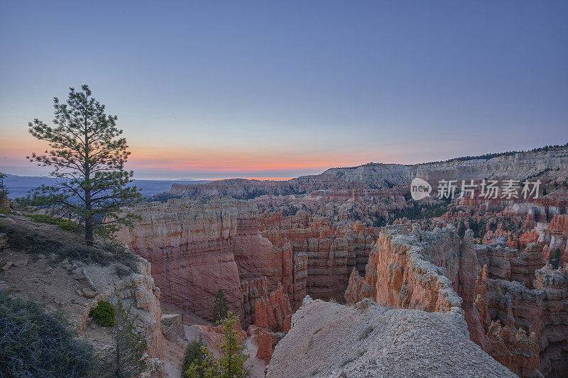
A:
{"label": "small yellow-green conifer at the bottom edge, left of the pale gravelly ledge", "polygon": [[222,378],[242,378],[249,375],[248,369],[244,367],[244,363],[249,358],[249,355],[243,352],[245,345],[241,343],[239,333],[234,329],[237,321],[239,321],[239,316],[234,316],[229,311],[221,323],[223,343],[217,346],[223,352],[223,355],[219,358]]}

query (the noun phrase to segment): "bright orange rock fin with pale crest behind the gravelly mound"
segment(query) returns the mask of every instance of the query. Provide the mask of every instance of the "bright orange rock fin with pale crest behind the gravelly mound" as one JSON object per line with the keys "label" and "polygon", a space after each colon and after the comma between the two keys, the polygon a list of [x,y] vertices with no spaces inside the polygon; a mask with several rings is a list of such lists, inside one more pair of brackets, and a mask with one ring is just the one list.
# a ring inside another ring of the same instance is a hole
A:
{"label": "bright orange rock fin with pale crest behind the gravelly mound", "polygon": [[[362,299],[361,294],[372,291],[371,299],[395,308],[432,312],[450,311],[452,307],[461,306],[461,298],[454,291],[452,281],[428,261],[446,265],[457,288],[460,256],[447,254],[460,250],[459,238],[447,228],[430,236],[432,244],[425,248],[420,247],[420,238],[419,230],[410,232],[400,226],[381,232],[369,256],[365,278],[351,274],[350,284],[353,282],[354,286],[348,287],[345,299],[353,303]],[[472,268],[476,269],[476,265]]]}

